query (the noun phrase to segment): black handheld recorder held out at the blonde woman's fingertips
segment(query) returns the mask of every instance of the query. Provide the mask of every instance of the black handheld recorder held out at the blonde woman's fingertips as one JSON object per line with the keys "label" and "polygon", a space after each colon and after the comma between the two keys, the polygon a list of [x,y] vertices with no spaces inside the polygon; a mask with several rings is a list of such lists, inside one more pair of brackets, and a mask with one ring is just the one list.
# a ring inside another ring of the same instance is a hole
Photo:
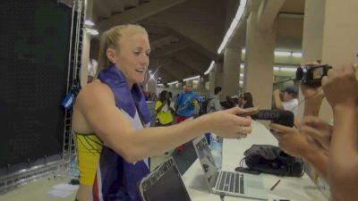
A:
{"label": "black handheld recorder held out at the blonde woman's fingertips", "polygon": [[254,120],[270,120],[284,126],[294,126],[294,113],[287,110],[260,110],[251,117]]}

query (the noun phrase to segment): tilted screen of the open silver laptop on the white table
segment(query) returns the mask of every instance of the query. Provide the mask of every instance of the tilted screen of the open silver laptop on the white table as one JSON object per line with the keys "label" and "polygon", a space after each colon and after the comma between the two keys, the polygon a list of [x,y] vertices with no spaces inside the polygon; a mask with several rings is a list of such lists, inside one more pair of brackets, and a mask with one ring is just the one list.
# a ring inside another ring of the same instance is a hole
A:
{"label": "tilted screen of the open silver laptop on the white table", "polygon": [[215,164],[214,157],[211,154],[208,142],[205,137],[195,138],[193,141],[196,154],[198,155],[201,168],[205,174],[205,180],[209,188],[213,188],[217,181],[217,165]]}

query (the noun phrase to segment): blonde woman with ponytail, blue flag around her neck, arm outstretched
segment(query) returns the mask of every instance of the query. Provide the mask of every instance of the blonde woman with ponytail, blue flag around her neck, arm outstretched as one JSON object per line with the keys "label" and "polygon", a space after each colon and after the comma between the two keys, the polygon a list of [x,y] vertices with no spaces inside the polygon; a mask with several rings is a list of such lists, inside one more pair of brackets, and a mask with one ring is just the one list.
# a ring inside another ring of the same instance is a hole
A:
{"label": "blonde woman with ponytail, blue flag around her neck, arm outstretched", "polygon": [[251,119],[236,115],[240,108],[148,128],[149,110],[139,83],[149,53],[148,33],[139,25],[116,26],[101,37],[98,79],[81,90],[72,116],[72,130],[85,142],[78,148],[77,200],[141,200],[137,182],[149,173],[150,156],[208,131],[224,138],[251,132]]}

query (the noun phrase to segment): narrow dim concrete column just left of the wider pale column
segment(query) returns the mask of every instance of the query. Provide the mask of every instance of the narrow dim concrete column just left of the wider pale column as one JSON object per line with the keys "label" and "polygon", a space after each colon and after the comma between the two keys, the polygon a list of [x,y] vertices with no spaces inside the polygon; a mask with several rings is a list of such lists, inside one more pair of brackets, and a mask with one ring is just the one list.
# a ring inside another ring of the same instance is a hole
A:
{"label": "narrow dim concrete column just left of the wider pale column", "polygon": [[223,95],[233,96],[240,87],[241,49],[226,48],[223,66]]}

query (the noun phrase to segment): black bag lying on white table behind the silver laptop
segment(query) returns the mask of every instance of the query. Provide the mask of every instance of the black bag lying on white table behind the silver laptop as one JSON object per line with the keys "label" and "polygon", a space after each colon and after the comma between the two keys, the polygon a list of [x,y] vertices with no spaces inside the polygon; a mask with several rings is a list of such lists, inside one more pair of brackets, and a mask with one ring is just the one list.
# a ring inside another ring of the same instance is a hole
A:
{"label": "black bag lying on white table behind the silver laptop", "polygon": [[253,145],[244,153],[244,162],[250,170],[278,176],[303,176],[303,160],[287,155],[270,145]]}

